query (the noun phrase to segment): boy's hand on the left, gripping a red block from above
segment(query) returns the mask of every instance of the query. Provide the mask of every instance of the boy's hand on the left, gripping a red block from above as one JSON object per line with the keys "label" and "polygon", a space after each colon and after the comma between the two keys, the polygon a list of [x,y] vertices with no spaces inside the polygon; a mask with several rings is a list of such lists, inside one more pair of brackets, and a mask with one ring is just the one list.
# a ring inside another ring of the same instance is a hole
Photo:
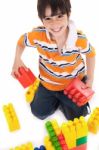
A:
{"label": "boy's hand on the left, gripping a red block from above", "polygon": [[18,61],[15,61],[12,67],[12,72],[11,72],[11,75],[15,79],[16,79],[16,76],[20,76],[20,73],[18,71],[20,67],[24,67],[26,70],[28,70],[28,68],[25,66],[25,64],[23,63],[21,59],[19,59]]}

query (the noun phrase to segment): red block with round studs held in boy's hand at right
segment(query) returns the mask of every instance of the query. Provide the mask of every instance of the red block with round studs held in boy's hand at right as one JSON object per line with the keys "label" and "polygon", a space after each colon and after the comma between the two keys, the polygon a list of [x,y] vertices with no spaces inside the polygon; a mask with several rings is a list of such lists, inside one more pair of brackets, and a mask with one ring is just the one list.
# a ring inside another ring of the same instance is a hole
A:
{"label": "red block with round studs held in boy's hand at right", "polygon": [[86,104],[94,94],[94,91],[86,86],[80,79],[75,78],[64,89],[64,94],[75,102],[78,106]]}

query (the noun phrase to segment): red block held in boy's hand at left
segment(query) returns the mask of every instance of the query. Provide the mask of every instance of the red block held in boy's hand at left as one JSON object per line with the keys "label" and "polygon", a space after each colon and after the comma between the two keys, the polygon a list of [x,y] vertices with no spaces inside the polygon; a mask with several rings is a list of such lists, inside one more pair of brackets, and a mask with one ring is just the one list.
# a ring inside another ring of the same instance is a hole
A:
{"label": "red block held in boy's hand at left", "polygon": [[20,76],[17,74],[15,74],[15,76],[24,88],[27,88],[36,80],[36,77],[29,68],[26,70],[24,67],[19,67],[18,72]]}

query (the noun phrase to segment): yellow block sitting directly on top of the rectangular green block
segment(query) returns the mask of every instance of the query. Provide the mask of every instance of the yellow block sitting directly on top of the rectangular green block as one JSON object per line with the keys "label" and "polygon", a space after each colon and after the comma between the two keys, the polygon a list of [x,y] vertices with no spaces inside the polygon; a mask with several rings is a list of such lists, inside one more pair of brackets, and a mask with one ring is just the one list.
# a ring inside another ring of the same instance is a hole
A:
{"label": "yellow block sitting directly on top of the rectangular green block", "polygon": [[79,119],[75,118],[73,121],[76,129],[76,138],[86,137],[88,135],[88,126],[84,117],[81,116]]}

